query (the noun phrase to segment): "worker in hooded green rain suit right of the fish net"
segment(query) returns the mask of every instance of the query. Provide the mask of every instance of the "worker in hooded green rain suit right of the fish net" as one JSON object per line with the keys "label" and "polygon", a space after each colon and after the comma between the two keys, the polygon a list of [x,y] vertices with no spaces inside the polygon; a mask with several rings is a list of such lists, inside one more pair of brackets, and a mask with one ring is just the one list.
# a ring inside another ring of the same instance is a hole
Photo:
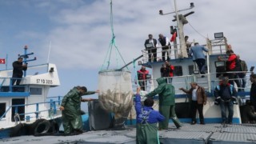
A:
{"label": "worker in hooded green rain suit right of the fish net", "polygon": [[159,130],[167,130],[169,124],[169,118],[172,119],[174,125],[179,128],[182,123],[179,122],[175,114],[175,90],[174,86],[170,83],[167,84],[166,78],[158,78],[158,87],[154,89],[146,97],[154,97],[158,94],[159,96],[159,112],[166,118],[165,121],[159,122]]}

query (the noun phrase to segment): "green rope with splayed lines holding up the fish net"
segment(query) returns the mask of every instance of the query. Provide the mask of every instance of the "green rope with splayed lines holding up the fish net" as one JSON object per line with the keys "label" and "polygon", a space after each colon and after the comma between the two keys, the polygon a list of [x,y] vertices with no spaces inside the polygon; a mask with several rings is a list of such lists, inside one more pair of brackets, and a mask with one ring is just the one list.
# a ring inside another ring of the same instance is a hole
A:
{"label": "green rope with splayed lines holding up the fish net", "polygon": [[[118,54],[120,56],[120,58],[122,58],[122,55],[120,54],[119,50],[118,50],[118,46],[116,46],[116,42],[115,42],[115,35],[114,35],[114,25],[113,25],[113,9],[112,9],[112,0],[110,0],[110,26],[111,26],[111,31],[112,31],[112,38],[111,38],[111,41],[110,41],[110,46],[107,50],[107,53],[106,53],[106,57],[104,59],[104,62],[102,64],[102,68],[101,70],[103,70],[103,66],[105,64],[107,64],[106,66],[106,70],[109,69],[110,67],[110,58],[111,58],[111,54],[112,54],[112,49],[113,49],[113,46],[115,48],[115,55],[116,55],[116,61],[117,61],[117,67],[119,67],[119,64],[118,64]],[[107,62],[106,62],[106,59]],[[124,59],[122,58],[122,62],[124,62],[124,64],[126,65],[126,62],[124,61]],[[127,67],[126,67],[127,68]],[[127,68],[128,69],[128,68]]]}

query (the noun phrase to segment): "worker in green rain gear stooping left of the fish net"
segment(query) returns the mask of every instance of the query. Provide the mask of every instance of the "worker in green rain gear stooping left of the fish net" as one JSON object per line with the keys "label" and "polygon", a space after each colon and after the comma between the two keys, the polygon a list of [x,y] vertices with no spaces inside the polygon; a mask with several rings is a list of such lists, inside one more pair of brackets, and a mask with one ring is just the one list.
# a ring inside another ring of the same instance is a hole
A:
{"label": "worker in green rain gear stooping left of the fish net", "polygon": [[82,133],[81,101],[86,102],[89,99],[83,99],[82,95],[98,93],[96,91],[87,91],[85,86],[76,86],[68,92],[62,99],[62,123],[65,134]]}

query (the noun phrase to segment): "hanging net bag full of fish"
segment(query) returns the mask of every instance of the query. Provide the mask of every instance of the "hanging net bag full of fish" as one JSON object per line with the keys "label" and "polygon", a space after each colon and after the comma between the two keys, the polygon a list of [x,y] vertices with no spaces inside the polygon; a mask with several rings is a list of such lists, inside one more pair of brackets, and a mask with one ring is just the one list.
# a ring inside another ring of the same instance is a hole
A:
{"label": "hanging net bag full of fish", "polygon": [[98,75],[100,106],[116,119],[125,117],[133,105],[130,71],[102,70]]}

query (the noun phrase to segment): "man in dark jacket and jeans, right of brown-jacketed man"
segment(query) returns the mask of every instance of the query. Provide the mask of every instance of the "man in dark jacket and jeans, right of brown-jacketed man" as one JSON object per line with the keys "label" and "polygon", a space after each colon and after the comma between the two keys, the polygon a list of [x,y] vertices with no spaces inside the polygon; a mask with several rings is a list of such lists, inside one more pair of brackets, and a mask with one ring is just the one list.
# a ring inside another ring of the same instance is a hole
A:
{"label": "man in dark jacket and jeans, right of brown-jacketed man", "polygon": [[[222,123],[232,124],[234,114],[234,101],[236,101],[237,91],[234,86],[229,83],[229,78],[222,78],[222,82],[214,89],[214,96],[221,106]],[[228,118],[226,118],[226,109],[229,111]]]}

